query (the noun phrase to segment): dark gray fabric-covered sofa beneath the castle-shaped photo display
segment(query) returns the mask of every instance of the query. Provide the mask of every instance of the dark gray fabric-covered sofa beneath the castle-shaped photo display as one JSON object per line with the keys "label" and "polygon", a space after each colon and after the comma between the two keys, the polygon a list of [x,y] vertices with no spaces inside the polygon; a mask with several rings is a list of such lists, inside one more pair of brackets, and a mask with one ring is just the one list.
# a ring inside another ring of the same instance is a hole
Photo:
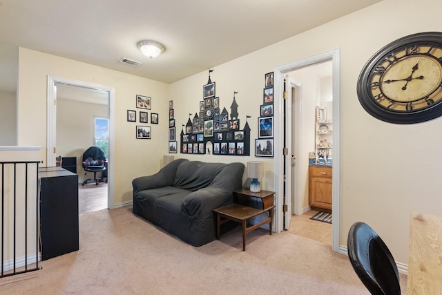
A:
{"label": "dark gray fabric-covered sofa beneath the castle-shaped photo display", "polygon": [[213,209],[233,203],[242,187],[242,163],[175,160],[132,181],[133,213],[193,246],[216,238]]}

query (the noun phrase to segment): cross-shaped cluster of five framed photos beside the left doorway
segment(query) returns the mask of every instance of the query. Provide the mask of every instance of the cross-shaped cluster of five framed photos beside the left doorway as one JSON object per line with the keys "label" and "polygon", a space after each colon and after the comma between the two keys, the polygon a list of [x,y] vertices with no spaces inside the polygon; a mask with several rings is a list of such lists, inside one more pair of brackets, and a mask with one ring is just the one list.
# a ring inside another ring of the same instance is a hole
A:
{"label": "cross-shaped cluster of five framed photos beside the left doorway", "polygon": [[[135,106],[144,110],[152,109],[152,98],[143,95],[135,95]],[[148,113],[146,111],[139,112],[140,124],[148,124]],[[137,122],[137,111],[127,110],[127,122]],[[158,124],[158,114],[151,113],[151,124]],[[137,125],[135,126],[135,137],[140,140],[150,140],[152,138],[151,126]]]}

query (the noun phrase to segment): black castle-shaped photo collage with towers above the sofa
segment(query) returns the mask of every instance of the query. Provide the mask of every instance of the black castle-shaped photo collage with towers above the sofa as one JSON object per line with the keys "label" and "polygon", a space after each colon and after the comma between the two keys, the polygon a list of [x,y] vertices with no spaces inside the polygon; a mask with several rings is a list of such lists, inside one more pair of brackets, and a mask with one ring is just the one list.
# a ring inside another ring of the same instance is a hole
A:
{"label": "black castle-shaped photo collage with towers above the sofa", "polygon": [[[233,92],[231,112],[220,108],[220,97],[215,96],[215,82],[209,81],[202,88],[202,100],[198,112],[181,132],[181,153],[213,155],[250,155],[250,127],[246,122],[240,129],[238,104]],[[230,115],[230,118],[229,118]]]}

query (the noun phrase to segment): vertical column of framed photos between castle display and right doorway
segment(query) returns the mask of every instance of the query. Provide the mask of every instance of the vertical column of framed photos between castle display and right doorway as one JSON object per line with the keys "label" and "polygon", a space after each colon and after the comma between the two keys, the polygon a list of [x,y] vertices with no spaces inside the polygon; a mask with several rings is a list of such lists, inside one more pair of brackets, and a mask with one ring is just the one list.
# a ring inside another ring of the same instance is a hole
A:
{"label": "vertical column of framed photos between castle display and right doorway", "polygon": [[258,139],[255,140],[255,156],[273,157],[273,72],[265,74],[265,88],[258,118]]}

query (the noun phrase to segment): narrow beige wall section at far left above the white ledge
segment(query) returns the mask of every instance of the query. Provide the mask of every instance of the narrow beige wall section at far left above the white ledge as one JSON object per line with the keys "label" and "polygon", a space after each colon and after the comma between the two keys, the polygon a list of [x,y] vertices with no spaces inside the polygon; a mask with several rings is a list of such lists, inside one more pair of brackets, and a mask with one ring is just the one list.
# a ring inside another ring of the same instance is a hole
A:
{"label": "narrow beige wall section at far left above the white ledge", "polygon": [[17,144],[17,95],[0,91],[0,146]]}

